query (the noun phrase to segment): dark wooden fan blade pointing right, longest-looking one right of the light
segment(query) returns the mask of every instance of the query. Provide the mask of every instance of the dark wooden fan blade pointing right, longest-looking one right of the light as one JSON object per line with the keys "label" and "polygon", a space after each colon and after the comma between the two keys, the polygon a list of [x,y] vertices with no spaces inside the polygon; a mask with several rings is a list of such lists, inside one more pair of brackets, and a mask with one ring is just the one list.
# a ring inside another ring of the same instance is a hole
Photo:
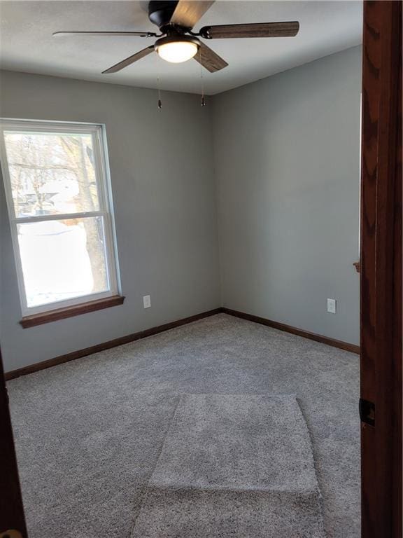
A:
{"label": "dark wooden fan blade pointing right, longest-looking one right of the light", "polygon": [[251,25],[218,25],[201,28],[204,39],[227,39],[232,37],[293,37],[299,30],[299,22],[257,22]]}

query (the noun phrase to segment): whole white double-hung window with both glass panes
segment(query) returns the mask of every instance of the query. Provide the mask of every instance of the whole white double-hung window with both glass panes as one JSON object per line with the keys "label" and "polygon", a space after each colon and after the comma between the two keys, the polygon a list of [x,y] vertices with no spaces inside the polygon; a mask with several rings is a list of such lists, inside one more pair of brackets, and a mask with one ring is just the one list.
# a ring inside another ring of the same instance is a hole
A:
{"label": "whole white double-hung window with both glass panes", "polygon": [[1,120],[0,132],[22,315],[116,296],[103,127]]}

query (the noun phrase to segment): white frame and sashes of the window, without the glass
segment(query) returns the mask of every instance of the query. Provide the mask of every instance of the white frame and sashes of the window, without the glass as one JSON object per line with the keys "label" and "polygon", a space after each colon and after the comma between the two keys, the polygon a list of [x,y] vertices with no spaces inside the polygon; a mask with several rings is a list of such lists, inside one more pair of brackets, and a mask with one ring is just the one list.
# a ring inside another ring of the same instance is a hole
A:
{"label": "white frame and sashes of the window, without the glass", "polygon": [[[13,193],[11,188],[10,174],[8,170],[8,161],[6,153],[6,143],[4,140],[4,131],[16,132],[36,132],[36,133],[55,133],[68,134],[79,133],[90,135],[92,137],[92,149],[94,151],[94,170],[97,182],[97,193],[99,200],[99,210],[93,212],[77,212],[55,215],[38,215],[17,217],[15,216],[15,207],[13,202]],[[11,237],[13,241],[13,250],[15,258],[15,267],[17,270],[18,289],[20,291],[20,303],[22,317],[51,312],[59,308],[66,308],[74,305],[81,305],[89,301],[97,301],[102,298],[117,296],[120,294],[120,280],[118,270],[118,251],[116,249],[115,223],[113,219],[113,203],[111,193],[111,177],[108,168],[108,153],[106,146],[105,125],[96,123],[73,123],[73,122],[53,122],[45,120],[15,120],[0,118],[0,161],[3,173],[3,184],[6,193],[6,202],[8,207],[8,217],[10,220]],[[105,237],[105,259],[106,271],[108,277],[109,289],[101,293],[87,294],[80,297],[54,301],[45,305],[28,307],[27,295],[24,287],[24,275],[22,273],[22,262],[20,256],[20,247],[18,244],[17,225],[20,223],[32,223],[38,221],[52,221],[64,219],[79,219],[88,216],[101,216],[104,219],[104,237]]]}

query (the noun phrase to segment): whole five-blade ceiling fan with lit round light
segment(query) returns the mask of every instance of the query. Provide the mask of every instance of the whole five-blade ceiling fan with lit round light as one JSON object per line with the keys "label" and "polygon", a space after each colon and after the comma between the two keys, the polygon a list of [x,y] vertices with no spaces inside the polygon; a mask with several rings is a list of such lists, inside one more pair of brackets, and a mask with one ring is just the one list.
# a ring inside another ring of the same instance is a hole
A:
{"label": "whole five-blade ceiling fan with lit round light", "polygon": [[214,0],[151,0],[148,18],[160,29],[154,32],[55,32],[53,36],[139,36],[157,37],[150,45],[122,62],[109,67],[103,74],[116,73],[124,67],[156,52],[167,62],[185,62],[194,58],[211,73],[227,67],[227,62],[201,41],[202,39],[232,39],[239,37],[293,37],[299,30],[299,22],[257,22],[245,25],[205,26],[198,33],[193,27],[214,4]]}

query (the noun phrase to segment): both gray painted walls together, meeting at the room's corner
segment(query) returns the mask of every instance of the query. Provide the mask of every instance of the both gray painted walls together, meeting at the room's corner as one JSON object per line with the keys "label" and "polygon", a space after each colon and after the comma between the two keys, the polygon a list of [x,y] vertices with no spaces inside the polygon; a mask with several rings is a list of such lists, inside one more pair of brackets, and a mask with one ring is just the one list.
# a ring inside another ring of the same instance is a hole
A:
{"label": "both gray painted walls together, meeting at the room's corner", "polygon": [[164,92],[160,112],[154,90],[3,71],[1,116],[106,124],[126,296],[22,329],[0,190],[6,370],[221,304],[358,343],[360,67],[352,48],[205,108],[197,95]]}

